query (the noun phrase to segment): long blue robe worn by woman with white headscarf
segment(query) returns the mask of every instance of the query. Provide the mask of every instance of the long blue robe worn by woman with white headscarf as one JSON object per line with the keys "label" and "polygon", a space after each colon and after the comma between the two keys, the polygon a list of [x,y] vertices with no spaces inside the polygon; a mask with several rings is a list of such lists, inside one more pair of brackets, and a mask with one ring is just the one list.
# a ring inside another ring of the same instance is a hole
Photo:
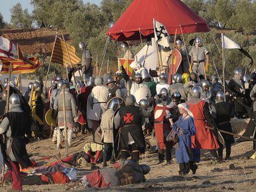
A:
{"label": "long blue robe worn by woman with white headscarf", "polygon": [[194,119],[192,117],[183,119],[181,115],[173,124],[172,128],[176,133],[179,133],[181,128],[183,129],[183,134],[179,135],[179,144],[175,150],[177,162],[181,164],[183,162],[187,163],[189,161],[194,161],[194,159],[192,159],[191,150],[191,136],[197,133]]}

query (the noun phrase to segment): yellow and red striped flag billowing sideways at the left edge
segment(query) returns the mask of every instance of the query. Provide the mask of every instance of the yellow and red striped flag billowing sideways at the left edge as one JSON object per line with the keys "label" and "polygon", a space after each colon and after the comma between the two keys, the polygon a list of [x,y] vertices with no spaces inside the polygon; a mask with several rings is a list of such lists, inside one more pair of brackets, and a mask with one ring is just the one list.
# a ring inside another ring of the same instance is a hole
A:
{"label": "yellow and red striped flag billowing sideways at the left edge", "polygon": [[41,67],[38,58],[11,59],[0,56],[0,74],[8,74],[9,66],[12,64],[12,74],[33,73]]}

